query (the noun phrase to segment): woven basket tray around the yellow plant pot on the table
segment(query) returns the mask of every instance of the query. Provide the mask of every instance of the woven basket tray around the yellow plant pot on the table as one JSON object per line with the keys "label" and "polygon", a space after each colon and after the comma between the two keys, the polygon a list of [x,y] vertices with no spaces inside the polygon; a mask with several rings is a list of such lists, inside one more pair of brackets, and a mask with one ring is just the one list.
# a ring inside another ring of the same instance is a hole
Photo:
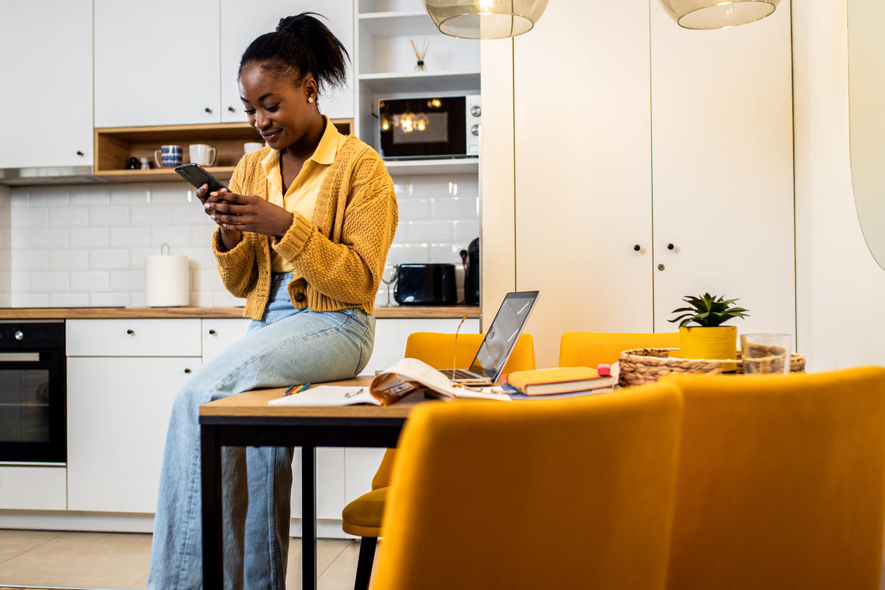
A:
{"label": "woven basket tray around the yellow plant pot on the table", "polygon": [[[722,372],[722,361],[705,358],[676,358],[670,357],[670,351],[675,349],[631,349],[620,353],[618,359],[619,374],[618,385],[631,387],[653,383],[661,377],[672,373],[706,373],[710,375]],[[734,359],[727,362],[737,365],[737,372],[743,373],[743,360],[741,351],[735,352]],[[771,363],[770,359],[753,359],[756,363]],[[790,355],[790,372],[805,372],[805,357],[799,354]]]}

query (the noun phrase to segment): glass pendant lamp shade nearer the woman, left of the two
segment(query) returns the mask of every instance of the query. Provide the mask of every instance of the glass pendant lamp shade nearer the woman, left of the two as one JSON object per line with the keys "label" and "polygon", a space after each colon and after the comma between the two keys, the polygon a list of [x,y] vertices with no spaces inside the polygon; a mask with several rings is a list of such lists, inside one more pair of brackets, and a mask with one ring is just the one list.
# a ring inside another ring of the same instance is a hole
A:
{"label": "glass pendant lamp shade nearer the woman, left of the two", "polygon": [[445,34],[462,39],[504,39],[535,27],[547,0],[424,0]]}

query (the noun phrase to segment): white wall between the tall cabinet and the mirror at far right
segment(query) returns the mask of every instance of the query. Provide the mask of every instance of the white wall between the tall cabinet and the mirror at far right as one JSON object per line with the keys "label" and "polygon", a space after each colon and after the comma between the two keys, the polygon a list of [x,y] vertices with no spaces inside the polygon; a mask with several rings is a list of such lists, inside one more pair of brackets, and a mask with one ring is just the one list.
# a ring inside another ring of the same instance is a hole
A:
{"label": "white wall between the tall cabinet and the mirror at far right", "polygon": [[797,349],[810,370],[885,364],[885,271],[851,188],[845,0],[794,0]]}

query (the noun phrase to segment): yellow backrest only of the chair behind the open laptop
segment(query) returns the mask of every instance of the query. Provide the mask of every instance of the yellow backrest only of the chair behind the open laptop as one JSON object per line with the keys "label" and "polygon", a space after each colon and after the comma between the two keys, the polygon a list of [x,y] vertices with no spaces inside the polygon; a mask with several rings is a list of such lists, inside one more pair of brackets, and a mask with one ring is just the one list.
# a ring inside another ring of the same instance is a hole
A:
{"label": "yellow backrest only of the chair behind the open laptop", "polygon": [[[476,351],[480,349],[485,334],[458,334],[458,352],[455,352],[455,334],[437,332],[413,332],[405,341],[405,355],[424,361],[435,369],[466,369]],[[457,356],[456,356],[457,354]],[[452,366],[452,360],[457,366]],[[529,333],[519,334],[516,345],[507,363],[504,364],[506,375],[513,371],[529,371],[535,368],[535,341]],[[393,470],[396,448],[384,452],[381,465],[372,478],[372,489],[390,485],[390,471]]]}

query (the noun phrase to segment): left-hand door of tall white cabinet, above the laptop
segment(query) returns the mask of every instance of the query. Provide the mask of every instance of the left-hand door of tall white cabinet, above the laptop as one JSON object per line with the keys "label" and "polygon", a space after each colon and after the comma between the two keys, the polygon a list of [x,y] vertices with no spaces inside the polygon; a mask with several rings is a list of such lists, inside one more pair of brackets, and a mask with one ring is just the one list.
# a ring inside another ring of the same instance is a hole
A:
{"label": "left-hand door of tall white cabinet, above the laptop", "polygon": [[648,16],[646,0],[551,2],[513,40],[516,280],[541,291],[539,367],[566,331],[652,326]]}

